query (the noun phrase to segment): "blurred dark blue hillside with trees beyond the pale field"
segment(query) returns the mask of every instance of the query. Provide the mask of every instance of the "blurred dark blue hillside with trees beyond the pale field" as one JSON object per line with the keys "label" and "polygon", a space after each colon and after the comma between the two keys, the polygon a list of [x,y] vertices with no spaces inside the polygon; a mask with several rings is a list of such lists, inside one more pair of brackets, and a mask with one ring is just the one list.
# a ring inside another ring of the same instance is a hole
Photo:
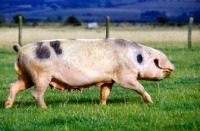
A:
{"label": "blurred dark blue hillside with trees beyond the pale field", "polygon": [[189,17],[200,23],[200,0],[0,0],[0,25],[23,23],[148,23],[187,24]]}

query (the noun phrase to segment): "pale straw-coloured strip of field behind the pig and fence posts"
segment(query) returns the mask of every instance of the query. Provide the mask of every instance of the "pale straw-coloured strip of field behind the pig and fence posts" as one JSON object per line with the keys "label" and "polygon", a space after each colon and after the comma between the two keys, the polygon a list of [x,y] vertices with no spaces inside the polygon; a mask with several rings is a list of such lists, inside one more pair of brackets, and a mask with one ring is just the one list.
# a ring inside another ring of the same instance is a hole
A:
{"label": "pale straw-coloured strip of field behind the pig and fence posts", "polygon": [[[200,41],[200,29],[194,28],[192,31],[193,46],[198,46]],[[0,30],[0,47],[12,46],[18,42],[18,29],[17,28],[1,28]],[[110,37],[123,38],[131,41],[139,42],[141,44],[163,47],[187,47],[187,27],[172,28],[172,27],[151,27],[151,26],[127,26],[110,27]],[[23,28],[22,41],[23,44],[30,42],[45,40],[45,39],[67,39],[67,38],[86,38],[86,39],[99,39],[105,38],[105,27],[99,29],[86,29],[82,27],[36,27],[36,28]],[[168,43],[168,44],[166,44]]]}

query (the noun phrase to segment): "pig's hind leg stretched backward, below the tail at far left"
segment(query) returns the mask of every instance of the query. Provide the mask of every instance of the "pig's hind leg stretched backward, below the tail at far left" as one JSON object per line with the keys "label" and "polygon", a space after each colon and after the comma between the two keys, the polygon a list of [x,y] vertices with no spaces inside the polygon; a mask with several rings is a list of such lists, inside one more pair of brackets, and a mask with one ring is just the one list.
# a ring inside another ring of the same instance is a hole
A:
{"label": "pig's hind leg stretched backward, below the tail at far left", "polygon": [[4,108],[10,108],[13,105],[16,95],[29,87],[33,86],[33,83],[29,78],[22,78],[18,76],[18,80],[12,84],[10,84],[9,88],[9,95],[7,101],[4,104]]}

